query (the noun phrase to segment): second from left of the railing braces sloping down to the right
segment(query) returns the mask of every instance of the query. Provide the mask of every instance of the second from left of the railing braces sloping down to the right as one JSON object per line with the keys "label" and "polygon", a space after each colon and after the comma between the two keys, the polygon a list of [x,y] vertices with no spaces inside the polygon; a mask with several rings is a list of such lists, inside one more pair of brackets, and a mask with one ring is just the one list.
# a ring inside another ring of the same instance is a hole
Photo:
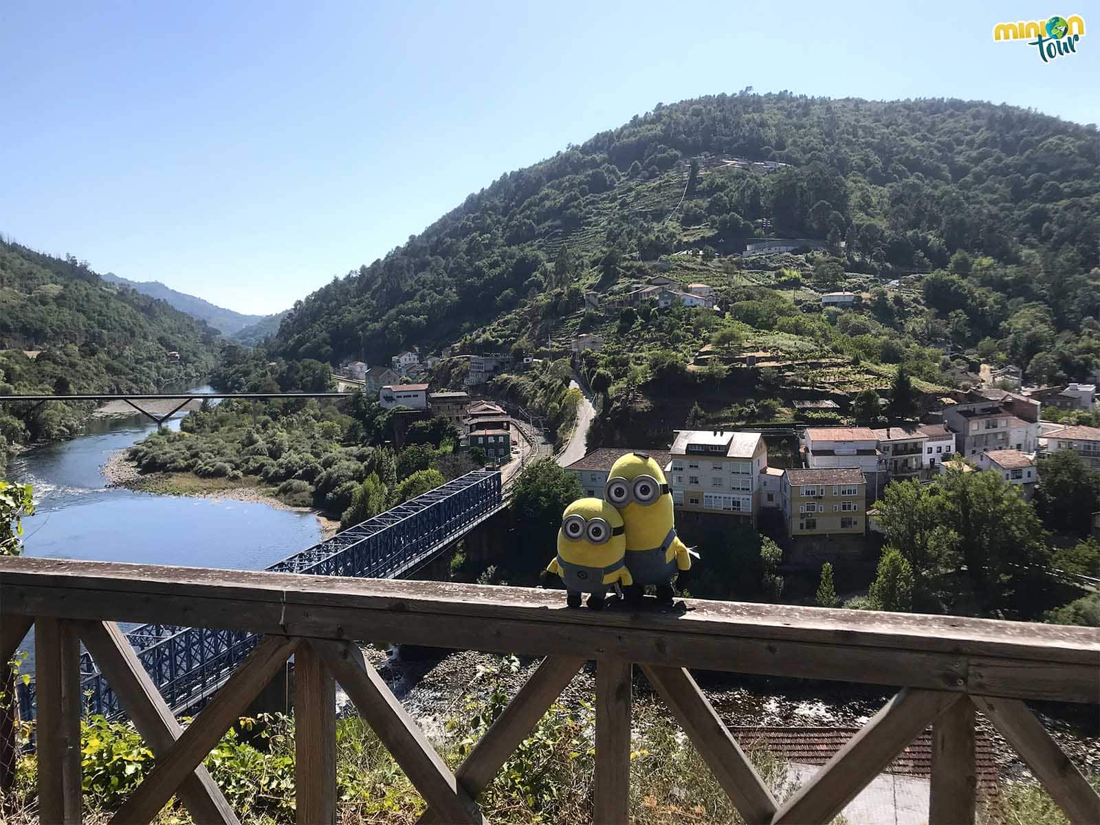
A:
{"label": "second from left of the railing braces sloping down to the right", "polygon": [[459,787],[428,737],[363,652],[349,642],[314,639],[310,645],[440,818],[447,823],[484,823],[473,799]]}

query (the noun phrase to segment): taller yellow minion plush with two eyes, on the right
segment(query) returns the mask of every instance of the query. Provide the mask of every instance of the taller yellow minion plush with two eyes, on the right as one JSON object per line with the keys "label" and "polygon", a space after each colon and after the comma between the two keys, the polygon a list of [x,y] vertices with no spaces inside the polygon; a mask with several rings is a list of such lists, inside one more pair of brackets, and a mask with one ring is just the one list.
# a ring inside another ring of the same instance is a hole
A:
{"label": "taller yellow minion plush with two eyes, on the right", "polygon": [[645,585],[656,584],[658,601],[671,604],[672,580],[691,568],[691,556],[672,524],[672,494],[661,465],[649,453],[620,457],[607,475],[604,498],[626,524],[626,566],[634,579],[627,601],[640,602]]}

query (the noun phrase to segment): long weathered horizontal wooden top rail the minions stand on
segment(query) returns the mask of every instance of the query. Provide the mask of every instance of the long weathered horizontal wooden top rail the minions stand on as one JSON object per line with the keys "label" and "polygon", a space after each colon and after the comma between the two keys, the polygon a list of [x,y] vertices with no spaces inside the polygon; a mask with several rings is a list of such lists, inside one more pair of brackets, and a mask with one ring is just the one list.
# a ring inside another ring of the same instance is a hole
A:
{"label": "long weathered horizontal wooden top rail the minions stand on", "polygon": [[1098,702],[1100,630],[690,600],[573,610],[561,591],[0,558],[3,610]]}

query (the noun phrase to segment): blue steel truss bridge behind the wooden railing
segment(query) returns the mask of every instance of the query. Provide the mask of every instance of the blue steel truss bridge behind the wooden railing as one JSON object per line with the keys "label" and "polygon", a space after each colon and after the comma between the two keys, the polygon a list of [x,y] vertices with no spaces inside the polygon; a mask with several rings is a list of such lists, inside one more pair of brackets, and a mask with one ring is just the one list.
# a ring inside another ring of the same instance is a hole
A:
{"label": "blue steel truss bridge behind the wooden railing", "polygon": [[[276,562],[280,573],[403,579],[439,558],[505,506],[498,471],[475,470]],[[200,707],[260,640],[253,634],[174,625],[127,632],[176,715]],[[118,696],[86,651],[80,690],[88,713],[124,717]],[[34,683],[19,685],[20,715],[34,718]]]}

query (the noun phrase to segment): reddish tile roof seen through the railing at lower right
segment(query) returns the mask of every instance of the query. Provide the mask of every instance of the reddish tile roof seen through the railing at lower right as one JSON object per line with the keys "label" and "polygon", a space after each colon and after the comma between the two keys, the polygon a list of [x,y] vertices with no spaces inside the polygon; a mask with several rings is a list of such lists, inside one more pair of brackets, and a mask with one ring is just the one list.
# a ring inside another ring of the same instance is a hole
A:
{"label": "reddish tile roof seen through the railing at lower right", "polygon": [[[858,733],[854,727],[732,727],[746,750],[766,748],[780,759],[799,765],[825,765]],[[980,792],[997,792],[997,758],[989,738],[975,734],[975,768]],[[887,766],[886,773],[932,776],[932,734],[925,730]]]}

